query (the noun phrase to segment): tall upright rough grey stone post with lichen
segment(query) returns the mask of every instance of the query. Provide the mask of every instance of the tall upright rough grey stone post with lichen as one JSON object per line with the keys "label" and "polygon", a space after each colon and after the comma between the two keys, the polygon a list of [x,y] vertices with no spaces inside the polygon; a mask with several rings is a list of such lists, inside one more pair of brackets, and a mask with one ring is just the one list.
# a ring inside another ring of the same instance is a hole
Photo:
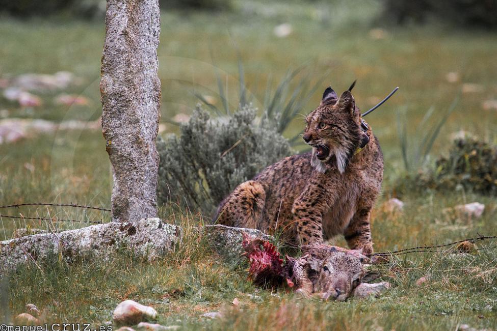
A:
{"label": "tall upright rough grey stone post with lichen", "polygon": [[160,30],[159,0],[107,0],[100,93],[116,222],[157,214]]}

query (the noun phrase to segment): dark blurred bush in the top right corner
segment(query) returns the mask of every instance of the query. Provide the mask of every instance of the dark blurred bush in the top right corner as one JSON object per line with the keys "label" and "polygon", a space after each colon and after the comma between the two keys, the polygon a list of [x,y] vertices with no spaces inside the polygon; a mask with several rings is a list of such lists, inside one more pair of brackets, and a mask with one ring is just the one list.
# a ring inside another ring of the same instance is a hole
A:
{"label": "dark blurred bush in the top right corner", "polygon": [[497,28],[497,0],[384,0],[384,13],[401,24],[431,16],[461,26]]}

